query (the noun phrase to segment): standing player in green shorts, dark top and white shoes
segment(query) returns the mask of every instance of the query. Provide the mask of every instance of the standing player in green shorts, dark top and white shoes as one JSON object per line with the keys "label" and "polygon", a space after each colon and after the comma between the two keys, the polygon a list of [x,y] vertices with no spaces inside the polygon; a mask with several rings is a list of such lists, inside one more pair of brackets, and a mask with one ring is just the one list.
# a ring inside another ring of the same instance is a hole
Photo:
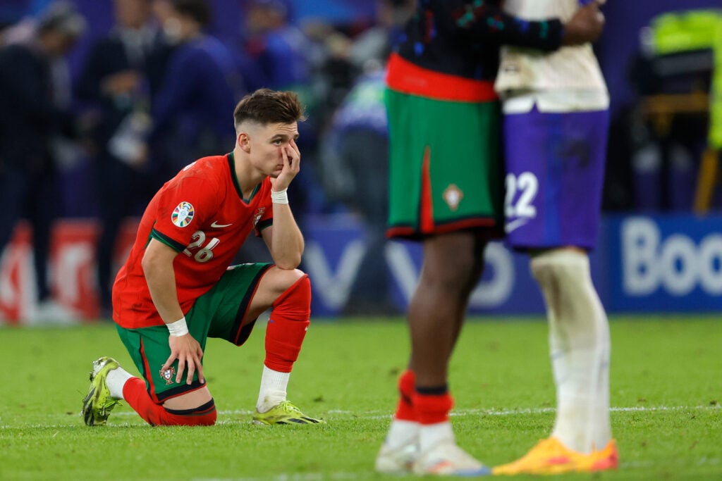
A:
{"label": "standing player in green shorts, dark top and white shoes", "polygon": [[501,1],[421,0],[388,63],[390,237],[423,242],[409,305],[412,352],[376,459],[380,472],[483,475],[456,445],[448,360],[484,265],[503,231],[500,110],[493,81],[501,43],[555,50],[599,35],[595,6],[566,25],[523,22]]}

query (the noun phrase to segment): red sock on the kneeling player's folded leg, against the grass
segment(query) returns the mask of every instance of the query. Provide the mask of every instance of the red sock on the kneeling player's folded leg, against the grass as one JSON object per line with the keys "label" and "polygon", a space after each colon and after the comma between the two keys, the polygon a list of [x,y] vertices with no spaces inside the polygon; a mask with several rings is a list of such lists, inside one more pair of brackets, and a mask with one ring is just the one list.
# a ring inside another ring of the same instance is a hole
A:
{"label": "red sock on the kneeling player's folded leg, against the grass", "polygon": [[123,386],[123,399],[152,426],[211,426],[216,423],[213,400],[189,410],[166,410],[155,404],[145,390],[145,381],[133,377]]}

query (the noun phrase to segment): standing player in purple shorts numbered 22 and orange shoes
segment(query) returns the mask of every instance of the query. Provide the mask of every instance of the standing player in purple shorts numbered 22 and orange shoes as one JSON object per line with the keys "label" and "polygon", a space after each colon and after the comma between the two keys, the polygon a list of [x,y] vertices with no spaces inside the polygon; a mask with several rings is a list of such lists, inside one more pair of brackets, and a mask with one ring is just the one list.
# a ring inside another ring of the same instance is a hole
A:
{"label": "standing player in purple shorts numbered 22 and orange shoes", "polygon": [[[580,3],[508,0],[504,8],[530,21],[567,19]],[[505,47],[496,89],[503,97],[506,135],[506,232],[515,249],[529,252],[531,273],[544,294],[557,417],[552,436],[494,472],[616,468],[609,323],[587,255],[596,245],[604,181],[609,124],[604,77],[588,43],[554,53]]]}

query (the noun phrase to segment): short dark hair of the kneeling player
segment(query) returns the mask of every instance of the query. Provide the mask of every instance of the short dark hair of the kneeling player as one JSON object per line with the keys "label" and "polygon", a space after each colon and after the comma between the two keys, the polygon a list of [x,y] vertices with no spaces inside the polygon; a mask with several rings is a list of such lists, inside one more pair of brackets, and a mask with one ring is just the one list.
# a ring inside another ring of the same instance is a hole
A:
{"label": "short dark hair of the kneeling player", "polygon": [[258,89],[246,95],[233,110],[233,124],[236,128],[243,122],[293,123],[306,120],[303,105],[295,92],[279,92]]}

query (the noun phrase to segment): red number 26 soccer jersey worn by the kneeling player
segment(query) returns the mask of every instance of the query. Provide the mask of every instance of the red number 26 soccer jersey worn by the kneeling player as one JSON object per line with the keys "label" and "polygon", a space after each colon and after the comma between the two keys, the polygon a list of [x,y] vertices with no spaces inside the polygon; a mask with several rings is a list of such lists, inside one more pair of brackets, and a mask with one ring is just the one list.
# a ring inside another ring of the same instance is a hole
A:
{"label": "red number 26 soccer jersey worn by the kneeling player", "polygon": [[225,273],[245,239],[271,225],[271,181],[244,199],[233,154],[204,157],[185,167],[152,198],[138,226],[128,260],[113,285],[113,319],[134,329],[162,325],[141,261],[150,239],[179,254],[173,261],[183,313]]}

